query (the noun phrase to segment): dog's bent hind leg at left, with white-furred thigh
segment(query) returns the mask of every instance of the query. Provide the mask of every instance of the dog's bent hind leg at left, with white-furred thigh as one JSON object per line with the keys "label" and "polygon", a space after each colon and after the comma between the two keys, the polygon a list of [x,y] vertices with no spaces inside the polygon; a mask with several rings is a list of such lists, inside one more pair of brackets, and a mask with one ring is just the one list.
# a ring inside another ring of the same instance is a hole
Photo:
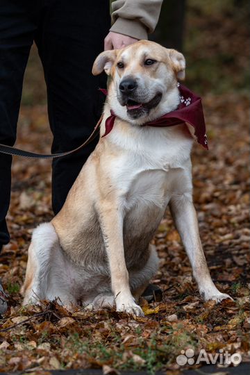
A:
{"label": "dog's bent hind leg at left, with white-furred thigh", "polygon": [[40,224],[32,236],[28,249],[26,278],[22,287],[23,304],[39,303],[41,299],[69,305],[76,303],[69,290],[65,256],[58,235],[51,223]]}

